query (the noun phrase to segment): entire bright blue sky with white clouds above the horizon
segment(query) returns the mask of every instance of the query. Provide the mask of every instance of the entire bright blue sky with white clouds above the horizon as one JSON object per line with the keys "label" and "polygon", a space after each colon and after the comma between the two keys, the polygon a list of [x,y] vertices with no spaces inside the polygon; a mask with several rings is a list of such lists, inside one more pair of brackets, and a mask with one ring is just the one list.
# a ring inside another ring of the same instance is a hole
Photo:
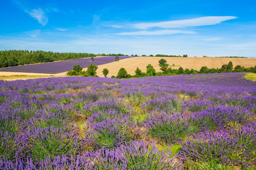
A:
{"label": "entire bright blue sky with white clouds above the horizon", "polygon": [[255,0],[4,0],[0,50],[256,56]]}

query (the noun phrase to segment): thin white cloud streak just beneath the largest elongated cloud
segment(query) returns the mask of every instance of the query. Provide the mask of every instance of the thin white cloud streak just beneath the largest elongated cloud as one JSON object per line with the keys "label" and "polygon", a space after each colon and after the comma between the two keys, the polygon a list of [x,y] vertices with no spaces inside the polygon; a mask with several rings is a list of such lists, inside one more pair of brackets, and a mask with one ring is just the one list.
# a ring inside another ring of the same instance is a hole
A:
{"label": "thin white cloud streak just beneath the largest elongated cloud", "polygon": [[181,31],[181,30],[161,30],[161,31],[135,31],[116,33],[115,35],[168,35],[168,34],[195,34],[195,31]]}

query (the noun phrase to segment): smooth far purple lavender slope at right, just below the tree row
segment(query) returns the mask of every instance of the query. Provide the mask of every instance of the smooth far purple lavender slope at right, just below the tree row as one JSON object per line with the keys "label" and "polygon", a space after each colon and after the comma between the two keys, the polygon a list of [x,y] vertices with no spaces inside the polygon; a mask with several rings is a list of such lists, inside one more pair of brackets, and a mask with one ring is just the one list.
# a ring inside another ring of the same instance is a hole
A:
{"label": "smooth far purple lavender slope at right, just below the tree row", "polygon": [[256,82],[245,79],[245,73],[210,73],[196,75],[155,76],[132,79],[139,82],[172,82],[214,86],[256,87]]}

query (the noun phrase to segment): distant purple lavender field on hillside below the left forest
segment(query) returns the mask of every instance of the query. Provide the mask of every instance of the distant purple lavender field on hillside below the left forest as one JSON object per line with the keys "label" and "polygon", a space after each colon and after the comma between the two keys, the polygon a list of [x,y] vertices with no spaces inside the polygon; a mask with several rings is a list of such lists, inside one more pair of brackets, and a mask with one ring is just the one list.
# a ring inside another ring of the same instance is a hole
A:
{"label": "distant purple lavender field on hillside below the left forest", "polygon": [[[127,56],[120,56],[119,59],[130,58]],[[110,62],[115,62],[115,57],[94,57],[94,61],[91,62],[91,58],[81,58],[73,60],[65,60],[59,62],[49,62],[40,64],[31,64],[25,66],[15,66],[9,68],[2,68],[0,71],[4,72],[23,72],[23,73],[45,73],[45,74],[57,74],[63,73],[65,71],[72,70],[74,65],[79,64],[81,67],[85,68],[90,64],[102,65]]]}

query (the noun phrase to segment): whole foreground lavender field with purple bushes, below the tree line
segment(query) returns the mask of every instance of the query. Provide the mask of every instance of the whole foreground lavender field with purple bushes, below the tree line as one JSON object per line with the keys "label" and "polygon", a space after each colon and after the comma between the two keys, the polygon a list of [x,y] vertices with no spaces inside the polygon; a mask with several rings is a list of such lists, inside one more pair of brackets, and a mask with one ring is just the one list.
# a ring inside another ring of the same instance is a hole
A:
{"label": "whole foreground lavender field with purple bushes, below the tree line", "polygon": [[255,170],[243,76],[0,81],[0,169]]}

